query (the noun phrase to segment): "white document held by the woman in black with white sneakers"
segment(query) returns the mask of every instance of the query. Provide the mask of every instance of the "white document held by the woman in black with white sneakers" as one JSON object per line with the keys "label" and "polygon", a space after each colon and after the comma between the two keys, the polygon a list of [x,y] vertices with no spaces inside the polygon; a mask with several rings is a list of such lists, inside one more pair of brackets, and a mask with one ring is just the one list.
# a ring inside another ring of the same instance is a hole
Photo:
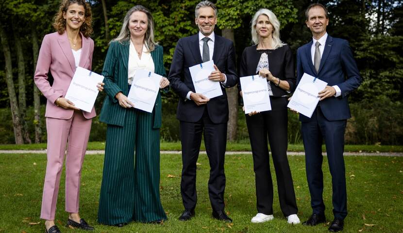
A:
{"label": "white document held by the woman in black with white sneakers", "polygon": [[266,78],[253,75],[239,78],[245,114],[271,110]]}

